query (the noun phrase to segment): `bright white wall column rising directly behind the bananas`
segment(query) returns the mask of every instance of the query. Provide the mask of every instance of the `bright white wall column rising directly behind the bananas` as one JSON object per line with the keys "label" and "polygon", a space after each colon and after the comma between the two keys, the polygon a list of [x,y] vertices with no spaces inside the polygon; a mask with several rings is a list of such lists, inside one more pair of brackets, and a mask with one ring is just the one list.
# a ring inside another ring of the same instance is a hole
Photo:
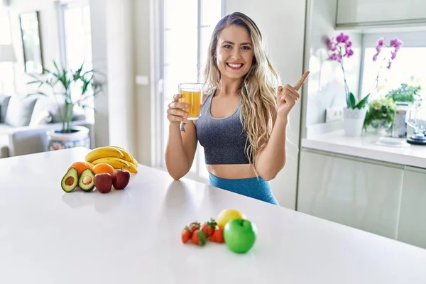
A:
{"label": "bright white wall column rising directly behind the bananas", "polygon": [[136,155],[133,1],[107,1],[109,143]]}

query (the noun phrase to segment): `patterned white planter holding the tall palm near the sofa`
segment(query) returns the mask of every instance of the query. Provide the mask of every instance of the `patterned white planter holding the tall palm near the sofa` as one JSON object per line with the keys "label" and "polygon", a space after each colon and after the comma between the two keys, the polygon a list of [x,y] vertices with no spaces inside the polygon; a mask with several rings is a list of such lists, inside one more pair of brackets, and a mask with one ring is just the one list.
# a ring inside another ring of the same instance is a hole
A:
{"label": "patterned white planter holding the tall palm near the sofa", "polygon": [[48,131],[48,150],[85,147],[90,148],[89,129],[84,126],[72,126],[72,132],[62,133],[62,130]]}

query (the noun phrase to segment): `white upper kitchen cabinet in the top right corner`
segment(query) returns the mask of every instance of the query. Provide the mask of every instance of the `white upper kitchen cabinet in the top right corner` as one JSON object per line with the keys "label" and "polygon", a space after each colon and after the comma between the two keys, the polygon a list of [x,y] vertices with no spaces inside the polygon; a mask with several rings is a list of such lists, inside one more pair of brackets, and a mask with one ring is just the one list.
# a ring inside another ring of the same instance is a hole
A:
{"label": "white upper kitchen cabinet in the top right corner", "polygon": [[339,0],[337,26],[426,23],[425,0]]}

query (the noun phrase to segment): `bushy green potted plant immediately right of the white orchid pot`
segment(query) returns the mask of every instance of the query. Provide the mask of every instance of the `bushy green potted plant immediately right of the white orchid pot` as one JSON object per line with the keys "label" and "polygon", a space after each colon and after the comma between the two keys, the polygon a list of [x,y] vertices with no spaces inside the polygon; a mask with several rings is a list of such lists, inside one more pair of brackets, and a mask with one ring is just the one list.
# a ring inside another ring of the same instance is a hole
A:
{"label": "bushy green potted plant immediately right of the white orchid pot", "polygon": [[376,122],[378,125],[389,126],[393,123],[395,116],[396,103],[393,99],[385,97],[383,99],[375,99],[368,104],[368,111],[364,119],[364,130],[368,126],[373,126]]}

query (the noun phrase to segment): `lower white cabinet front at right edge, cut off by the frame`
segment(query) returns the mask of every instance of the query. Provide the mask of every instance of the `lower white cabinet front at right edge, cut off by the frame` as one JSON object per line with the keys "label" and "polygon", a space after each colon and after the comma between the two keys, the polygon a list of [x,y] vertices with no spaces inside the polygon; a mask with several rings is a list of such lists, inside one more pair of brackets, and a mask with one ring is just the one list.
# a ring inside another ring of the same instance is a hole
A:
{"label": "lower white cabinet front at right edge, cut off by the frame", "polygon": [[426,249],[425,169],[405,168],[397,239]]}

